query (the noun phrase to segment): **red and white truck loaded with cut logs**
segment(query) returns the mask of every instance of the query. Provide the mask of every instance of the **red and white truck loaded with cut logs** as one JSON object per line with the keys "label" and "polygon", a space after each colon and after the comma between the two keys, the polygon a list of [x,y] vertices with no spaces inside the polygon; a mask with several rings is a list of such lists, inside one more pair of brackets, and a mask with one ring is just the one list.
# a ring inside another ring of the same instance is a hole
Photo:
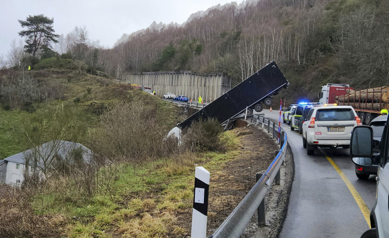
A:
{"label": "red and white truck loaded with cut logs", "polygon": [[389,109],[389,87],[354,89],[348,84],[327,83],[319,93],[319,102],[353,106],[363,124],[369,124],[381,115],[381,109]]}

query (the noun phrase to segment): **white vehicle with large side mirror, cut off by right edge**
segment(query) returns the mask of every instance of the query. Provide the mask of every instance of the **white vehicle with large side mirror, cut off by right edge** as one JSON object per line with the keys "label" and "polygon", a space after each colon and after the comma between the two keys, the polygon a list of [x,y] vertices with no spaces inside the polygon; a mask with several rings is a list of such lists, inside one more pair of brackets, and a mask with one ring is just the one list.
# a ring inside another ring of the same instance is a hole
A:
{"label": "white vehicle with large side mirror, cut off by right edge", "polygon": [[379,148],[376,203],[370,214],[371,229],[361,238],[389,237],[389,117],[386,120],[381,141],[374,140],[370,126],[356,126],[350,141],[351,160],[357,166],[372,165],[374,148]]}

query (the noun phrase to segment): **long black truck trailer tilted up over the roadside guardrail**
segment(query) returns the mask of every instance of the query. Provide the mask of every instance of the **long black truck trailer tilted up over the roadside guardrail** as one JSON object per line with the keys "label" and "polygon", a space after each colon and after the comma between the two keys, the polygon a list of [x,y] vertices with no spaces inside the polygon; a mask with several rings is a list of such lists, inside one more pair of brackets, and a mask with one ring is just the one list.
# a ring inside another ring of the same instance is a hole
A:
{"label": "long black truck trailer tilted up over the roadside guardrail", "polygon": [[200,118],[216,118],[220,123],[226,122],[287,84],[285,76],[272,61],[177,126],[183,129]]}

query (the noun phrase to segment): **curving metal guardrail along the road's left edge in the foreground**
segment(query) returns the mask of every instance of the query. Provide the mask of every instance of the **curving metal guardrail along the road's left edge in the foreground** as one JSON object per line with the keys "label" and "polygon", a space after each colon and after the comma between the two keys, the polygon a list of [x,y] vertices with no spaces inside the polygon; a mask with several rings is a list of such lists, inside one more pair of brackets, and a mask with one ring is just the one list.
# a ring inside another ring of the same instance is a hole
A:
{"label": "curving metal guardrail along the road's left edge in the foreground", "polygon": [[[272,129],[271,133],[273,138],[278,136],[278,124],[275,124],[262,116],[253,115],[251,122],[254,119],[256,119],[257,125],[262,125],[263,129],[266,129],[267,127],[268,133],[270,133],[270,130]],[[274,136],[275,134],[276,136]],[[264,197],[269,191],[274,179],[276,180],[277,185],[280,184],[280,168],[285,159],[287,143],[286,133],[280,129],[280,152],[275,156],[274,160],[270,163],[269,168],[261,176],[261,178],[258,179],[254,187],[243,198],[242,202],[236,206],[236,208],[216,229],[216,231],[212,235],[208,236],[209,238],[239,237],[249,224],[250,219],[253,217],[258,208],[258,220],[261,220],[260,216],[263,215],[263,221],[265,221],[265,209],[261,209],[261,207],[263,206],[264,208]],[[263,214],[259,214],[259,211],[263,212]]]}

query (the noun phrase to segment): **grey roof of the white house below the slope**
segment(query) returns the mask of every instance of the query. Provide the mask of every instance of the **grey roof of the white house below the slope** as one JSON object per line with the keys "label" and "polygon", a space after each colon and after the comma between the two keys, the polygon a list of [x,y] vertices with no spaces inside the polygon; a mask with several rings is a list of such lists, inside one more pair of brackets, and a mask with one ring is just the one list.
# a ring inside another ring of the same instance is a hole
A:
{"label": "grey roof of the white house below the slope", "polygon": [[[64,140],[57,140],[57,141],[50,141],[46,142],[42,145],[40,145],[37,149],[41,152],[41,154],[45,156],[54,156],[55,154],[60,155],[62,158],[65,158],[68,154],[68,152],[72,149],[76,148],[82,148],[83,149],[83,159],[85,162],[89,162],[91,151],[84,147],[84,145],[80,143],[70,142],[70,141],[64,141]],[[32,154],[34,152],[34,149],[29,149],[27,151],[17,153],[15,155],[11,155],[7,158],[5,158],[5,161],[15,162],[15,163],[21,163],[25,164],[26,159],[25,156],[28,154]],[[1,163],[0,163],[1,165]]]}

